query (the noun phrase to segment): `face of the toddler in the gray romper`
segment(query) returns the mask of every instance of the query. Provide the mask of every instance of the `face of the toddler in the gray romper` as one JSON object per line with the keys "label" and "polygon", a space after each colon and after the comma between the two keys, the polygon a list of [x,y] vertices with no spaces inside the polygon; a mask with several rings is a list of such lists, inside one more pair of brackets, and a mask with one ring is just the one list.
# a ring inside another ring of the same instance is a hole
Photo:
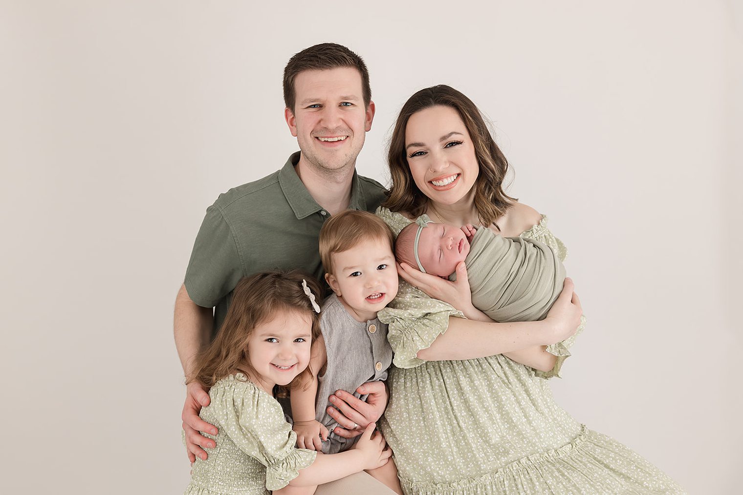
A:
{"label": "face of the toddler in the gray romper", "polygon": [[333,255],[328,284],[356,313],[359,321],[377,318],[377,311],[398,295],[398,270],[389,242],[370,239]]}

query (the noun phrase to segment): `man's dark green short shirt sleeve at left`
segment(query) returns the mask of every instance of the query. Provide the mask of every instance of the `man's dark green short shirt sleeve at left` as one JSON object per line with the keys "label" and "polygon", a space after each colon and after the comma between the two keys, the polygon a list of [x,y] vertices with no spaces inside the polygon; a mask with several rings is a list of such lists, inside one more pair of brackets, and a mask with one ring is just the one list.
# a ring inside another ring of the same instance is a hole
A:
{"label": "man's dark green short shirt sleeve at left", "polygon": [[186,269],[186,290],[199,306],[212,307],[229,294],[244,274],[232,226],[213,204],[196,235]]}

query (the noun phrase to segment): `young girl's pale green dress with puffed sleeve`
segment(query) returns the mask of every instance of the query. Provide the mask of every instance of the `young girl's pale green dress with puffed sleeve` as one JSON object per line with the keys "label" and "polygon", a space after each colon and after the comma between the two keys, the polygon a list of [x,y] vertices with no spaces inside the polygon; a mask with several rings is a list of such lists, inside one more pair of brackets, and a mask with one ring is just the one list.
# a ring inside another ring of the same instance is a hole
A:
{"label": "young girl's pale green dress with puffed sleeve", "polygon": [[268,495],[315,461],[314,450],[296,448],[296,433],[281,405],[243,374],[214,384],[201,419],[214,424],[217,442],[207,460],[196,458],[185,495]]}

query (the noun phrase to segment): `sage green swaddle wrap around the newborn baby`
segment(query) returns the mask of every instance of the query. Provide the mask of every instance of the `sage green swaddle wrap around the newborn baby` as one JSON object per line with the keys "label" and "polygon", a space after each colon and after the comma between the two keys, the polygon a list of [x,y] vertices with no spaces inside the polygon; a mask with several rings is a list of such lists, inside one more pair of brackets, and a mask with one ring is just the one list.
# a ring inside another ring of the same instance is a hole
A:
{"label": "sage green swaddle wrap around the newborn baby", "polygon": [[[503,237],[479,227],[464,260],[472,303],[495,321],[537,321],[562,292],[565,267],[538,240]],[[456,279],[456,274],[450,275]]]}

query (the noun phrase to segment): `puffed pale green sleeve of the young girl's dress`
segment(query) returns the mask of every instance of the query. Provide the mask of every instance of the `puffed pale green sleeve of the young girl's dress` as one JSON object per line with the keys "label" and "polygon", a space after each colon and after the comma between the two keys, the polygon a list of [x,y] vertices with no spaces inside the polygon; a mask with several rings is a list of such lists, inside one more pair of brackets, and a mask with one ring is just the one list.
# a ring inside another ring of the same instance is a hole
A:
{"label": "puffed pale green sleeve of the young girl's dress", "polygon": [[317,452],[296,448],[296,433],[279,402],[250,381],[233,381],[218,398],[219,421],[240,450],[266,467],[266,489],[279,490],[314,461]]}

